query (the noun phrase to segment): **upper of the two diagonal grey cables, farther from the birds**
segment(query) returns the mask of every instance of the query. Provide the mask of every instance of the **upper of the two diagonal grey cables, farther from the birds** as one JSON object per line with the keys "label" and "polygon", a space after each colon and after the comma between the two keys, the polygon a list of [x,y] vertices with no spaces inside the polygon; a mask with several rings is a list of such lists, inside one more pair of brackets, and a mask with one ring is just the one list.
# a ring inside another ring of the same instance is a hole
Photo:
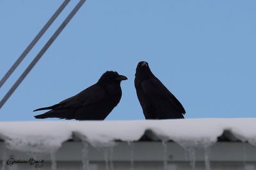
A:
{"label": "upper of the two diagonal grey cables, farther from the birds", "polygon": [[38,40],[44,35],[45,31],[51,26],[52,22],[56,20],[56,18],[60,15],[61,11],[64,10],[64,8],[67,6],[67,4],[70,2],[70,0],[65,0],[61,6],[58,8],[58,10],[55,11],[55,13],[52,15],[52,17],[48,20],[48,22],[44,25],[44,27],[38,32],[38,34],[35,36],[35,38],[31,41],[31,43],[28,45],[28,47],[22,52],[20,57],[15,61],[15,63],[10,67],[10,69],[7,71],[6,74],[4,74],[3,78],[0,81],[0,88],[3,86],[3,84],[8,80],[8,78],[11,76],[13,71],[19,66],[20,62],[28,55],[30,50],[36,45]]}

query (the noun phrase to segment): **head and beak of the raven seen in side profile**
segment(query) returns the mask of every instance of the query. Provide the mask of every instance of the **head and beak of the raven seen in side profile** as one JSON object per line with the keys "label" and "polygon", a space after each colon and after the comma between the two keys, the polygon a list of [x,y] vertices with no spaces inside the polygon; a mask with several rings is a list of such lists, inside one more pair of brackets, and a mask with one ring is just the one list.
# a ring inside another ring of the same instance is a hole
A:
{"label": "head and beak of the raven seen in side profile", "polygon": [[112,84],[120,83],[122,80],[127,80],[126,76],[118,74],[116,71],[106,71],[99,79],[99,83]]}

